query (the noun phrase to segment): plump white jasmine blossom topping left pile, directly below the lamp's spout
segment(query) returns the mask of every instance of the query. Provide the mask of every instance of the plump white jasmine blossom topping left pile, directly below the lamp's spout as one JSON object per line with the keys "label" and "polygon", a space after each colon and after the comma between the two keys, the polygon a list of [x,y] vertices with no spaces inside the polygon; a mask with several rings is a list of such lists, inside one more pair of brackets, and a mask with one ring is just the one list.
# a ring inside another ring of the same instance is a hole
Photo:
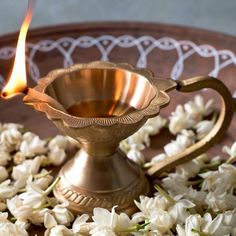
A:
{"label": "plump white jasmine blossom topping left pile, directly below the lamp's spout", "polygon": [[[29,134],[28,136],[33,136]],[[47,151],[45,147],[46,141],[41,140],[39,136],[33,136],[31,140],[26,137],[20,144],[20,152],[22,152],[26,157],[33,157],[38,154],[44,154]]]}

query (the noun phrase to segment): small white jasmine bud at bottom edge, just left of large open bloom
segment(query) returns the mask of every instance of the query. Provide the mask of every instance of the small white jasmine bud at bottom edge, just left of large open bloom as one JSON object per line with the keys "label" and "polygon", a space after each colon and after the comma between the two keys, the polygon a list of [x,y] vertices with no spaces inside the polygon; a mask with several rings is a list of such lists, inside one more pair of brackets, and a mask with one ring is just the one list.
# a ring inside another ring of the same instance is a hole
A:
{"label": "small white jasmine bud at bottom edge, just left of large open bloom", "polygon": [[73,225],[72,231],[73,233],[81,233],[81,234],[89,234],[89,232],[93,229],[94,223],[87,223],[89,219],[89,215],[83,214],[81,216],[77,216]]}

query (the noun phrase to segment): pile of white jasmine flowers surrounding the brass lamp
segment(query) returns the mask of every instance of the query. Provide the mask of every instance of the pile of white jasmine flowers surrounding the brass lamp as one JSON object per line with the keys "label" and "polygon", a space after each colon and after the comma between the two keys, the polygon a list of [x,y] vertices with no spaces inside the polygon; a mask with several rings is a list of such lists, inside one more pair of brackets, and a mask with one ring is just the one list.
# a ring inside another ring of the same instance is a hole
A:
{"label": "pile of white jasmine flowers surrounding the brass lamp", "polygon": [[[196,96],[178,105],[168,119],[150,119],[120,148],[146,168],[203,138],[215,117],[212,101],[205,104]],[[176,139],[146,162],[142,150],[163,128]],[[95,208],[92,219],[73,215],[68,202],[59,203],[52,194],[60,179],[54,179],[51,170],[65,161],[73,145],[64,136],[42,140],[19,124],[0,124],[0,236],[29,235],[31,224],[44,228],[46,236],[236,235],[236,142],[223,147],[228,161],[203,154],[163,175],[153,197],[134,201],[139,211],[131,217],[116,213],[114,206]]]}

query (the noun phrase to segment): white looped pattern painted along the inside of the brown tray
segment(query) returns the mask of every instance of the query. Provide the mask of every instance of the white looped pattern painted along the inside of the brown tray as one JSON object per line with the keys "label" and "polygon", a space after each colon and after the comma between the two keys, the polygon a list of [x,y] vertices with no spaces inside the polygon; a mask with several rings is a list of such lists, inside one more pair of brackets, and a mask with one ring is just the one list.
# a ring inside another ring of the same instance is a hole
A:
{"label": "white looped pattern painted along the inside of the brown tray", "polygon": [[[134,37],[131,35],[122,35],[115,37],[112,35],[102,35],[99,37],[81,36],[78,38],[63,37],[57,40],[42,40],[36,44],[28,43],[27,50],[29,51],[27,63],[31,78],[37,81],[40,78],[40,71],[37,64],[34,62],[34,57],[37,52],[47,53],[52,50],[58,50],[62,55],[63,66],[68,67],[74,64],[72,54],[76,48],[97,47],[101,53],[101,60],[109,60],[109,54],[115,47],[130,48],[136,47],[139,52],[139,58],[136,66],[147,67],[147,57],[155,49],[163,51],[175,50],[178,59],[171,69],[170,77],[178,79],[183,73],[185,61],[197,54],[203,58],[211,58],[214,61],[214,66],[211,68],[209,75],[217,77],[220,70],[233,65],[236,66],[236,55],[230,50],[217,50],[211,45],[197,45],[189,40],[176,40],[170,37],[154,38],[144,35]],[[9,60],[15,54],[15,48],[3,47],[0,48],[0,59]],[[78,55],[79,56],[79,55]],[[53,69],[53,68],[51,68]],[[0,75],[0,86],[4,79]],[[236,92],[234,93],[236,95]]]}

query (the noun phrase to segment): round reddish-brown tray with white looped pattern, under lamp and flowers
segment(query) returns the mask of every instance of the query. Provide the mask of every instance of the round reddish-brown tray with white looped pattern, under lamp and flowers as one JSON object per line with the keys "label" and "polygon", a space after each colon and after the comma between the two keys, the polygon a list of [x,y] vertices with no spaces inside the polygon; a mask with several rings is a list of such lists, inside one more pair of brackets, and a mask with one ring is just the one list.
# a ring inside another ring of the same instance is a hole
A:
{"label": "round reddish-brown tray with white looped pattern, under lamp and flowers", "polygon": [[[0,37],[0,87],[13,63],[14,46],[18,33]],[[236,37],[206,30],[151,23],[84,23],[53,26],[31,30],[27,38],[27,66],[30,86],[48,71],[73,63],[94,60],[127,62],[147,67],[158,77],[183,79],[196,75],[220,78],[236,96]],[[218,97],[212,91],[202,91],[207,99]],[[194,94],[171,92],[171,104],[161,110],[163,116],[173,111]],[[223,145],[236,140],[235,116],[225,138],[209,150],[211,155],[221,154]],[[42,114],[22,103],[21,97],[0,100],[0,122],[18,122],[42,137],[59,131]],[[171,135],[163,131],[153,137],[151,147],[145,151],[152,157],[169,142]],[[32,232],[33,235],[33,232]]]}

